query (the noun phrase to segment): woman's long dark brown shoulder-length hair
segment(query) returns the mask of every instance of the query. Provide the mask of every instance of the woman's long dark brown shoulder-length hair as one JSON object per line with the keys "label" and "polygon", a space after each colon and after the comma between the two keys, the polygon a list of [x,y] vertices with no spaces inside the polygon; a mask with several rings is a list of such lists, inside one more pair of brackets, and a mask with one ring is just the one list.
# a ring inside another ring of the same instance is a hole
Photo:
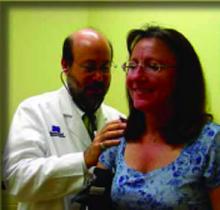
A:
{"label": "woman's long dark brown shoulder-length hair", "polygon": [[[212,115],[205,112],[205,82],[199,58],[183,34],[174,29],[159,26],[131,30],[127,36],[129,56],[137,42],[144,38],[160,39],[176,58],[173,116],[161,131],[169,144],[193,141],[198,137],[204,124],[212,120]],[[134,108],[128,90],[127,96],[130,113],[125,138],[132,141],[143,134],[147,125],[144,113]]]}

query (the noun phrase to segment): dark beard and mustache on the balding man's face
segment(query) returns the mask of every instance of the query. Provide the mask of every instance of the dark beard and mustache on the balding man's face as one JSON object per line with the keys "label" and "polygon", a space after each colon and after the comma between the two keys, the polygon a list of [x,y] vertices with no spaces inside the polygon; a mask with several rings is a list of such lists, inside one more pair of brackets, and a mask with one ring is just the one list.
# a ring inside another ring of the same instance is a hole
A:
{"label": "dark beard and mustache on the balding man's face", "polygon": [[[86,113],[94,113],[100,107],[108,90],[103,82],[94,82],[86,85],[84,88],[79,88],[77,81],[73,77],[67,78],[67,85],[73,101],[82,111]],[[90,88],[100,89],[103,90],[103,92],[88,96],[86,92]]]}

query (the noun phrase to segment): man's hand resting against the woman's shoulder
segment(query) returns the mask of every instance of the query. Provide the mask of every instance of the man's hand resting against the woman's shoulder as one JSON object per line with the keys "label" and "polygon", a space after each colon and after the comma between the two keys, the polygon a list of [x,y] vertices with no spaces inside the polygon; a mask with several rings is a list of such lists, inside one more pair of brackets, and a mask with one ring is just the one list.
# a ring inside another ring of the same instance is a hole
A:
{"label": "man's hand resting against the woman's shoulder", "polygon": [[124,120],[114,120],[107,123],[101,131],[96,133],[92,144],[84,152],[87,168],[97,164],[102,150],[120,143],[119,138],[123,135],[125,127],[126,122]]}

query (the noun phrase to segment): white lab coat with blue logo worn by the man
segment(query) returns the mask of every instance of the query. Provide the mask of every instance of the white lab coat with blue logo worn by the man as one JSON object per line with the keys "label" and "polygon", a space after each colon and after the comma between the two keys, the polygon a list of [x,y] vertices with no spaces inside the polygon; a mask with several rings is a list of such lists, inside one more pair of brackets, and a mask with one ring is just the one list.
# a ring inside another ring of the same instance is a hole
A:
{"label": "white lab coat with blue logo worn by the man", "polygon": [[[4,155],[5,178],[19,210],[72,210],[68,196],[88,177],[83,151],[91,140],[81,114],[64,87],[19,105]],[[123,115],[102,104],[96,116],[99,130]]]}

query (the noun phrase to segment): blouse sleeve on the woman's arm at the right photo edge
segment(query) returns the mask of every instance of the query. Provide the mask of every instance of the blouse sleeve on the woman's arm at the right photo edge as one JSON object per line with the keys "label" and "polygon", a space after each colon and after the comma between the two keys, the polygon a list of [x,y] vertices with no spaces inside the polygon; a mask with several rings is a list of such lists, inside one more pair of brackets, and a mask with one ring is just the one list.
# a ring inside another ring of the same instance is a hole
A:
{"label": "blouse sleeve on the woman's arm at the right photo edge", "polygon": [[220,186],[220,129],[216,131],[212,139],[204,177],[208,188]]}

